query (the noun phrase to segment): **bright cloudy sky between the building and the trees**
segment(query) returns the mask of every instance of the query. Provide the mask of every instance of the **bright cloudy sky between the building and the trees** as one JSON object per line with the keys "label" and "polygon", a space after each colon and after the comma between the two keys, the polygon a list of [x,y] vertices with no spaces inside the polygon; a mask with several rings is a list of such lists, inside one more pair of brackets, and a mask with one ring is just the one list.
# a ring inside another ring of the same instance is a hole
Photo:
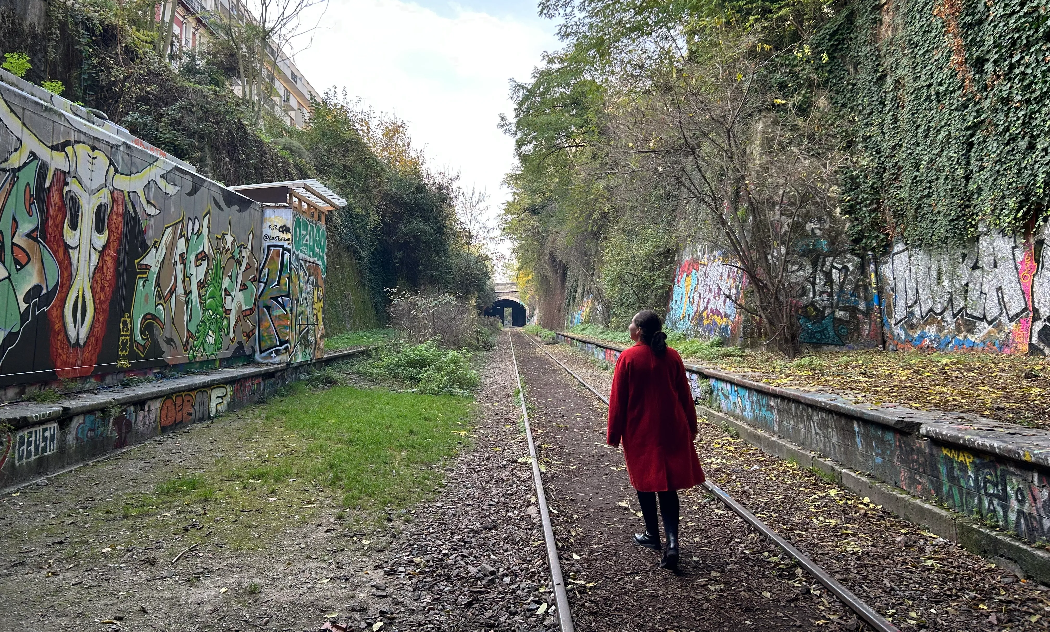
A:
{"label": "bright cloudy sky between the building and the trees", "polygon": [[345,87],[406,121],[432,167],[488,191],[495,218],[514,164],[512,141],[497,127],[512,111],[508,82],[527,80],[559,47],[554,28],[531,0],[330,0],[295,61],[317,90]]}

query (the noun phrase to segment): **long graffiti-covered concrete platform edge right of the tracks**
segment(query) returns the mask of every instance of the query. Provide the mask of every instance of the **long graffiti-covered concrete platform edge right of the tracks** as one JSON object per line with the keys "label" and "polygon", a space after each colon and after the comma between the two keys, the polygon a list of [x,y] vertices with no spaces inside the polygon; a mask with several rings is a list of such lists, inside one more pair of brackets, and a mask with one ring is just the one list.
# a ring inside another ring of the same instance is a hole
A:
{"label": "long graffiti-covered concrete platform edge right of the tracks", "polygon": [[[558,339],[606,362],[623,350],[567,333]],[[1021,539],[1050,541],[1050,432],[965,413],[855,405],[686,368],[697,402],[720,413]]]}

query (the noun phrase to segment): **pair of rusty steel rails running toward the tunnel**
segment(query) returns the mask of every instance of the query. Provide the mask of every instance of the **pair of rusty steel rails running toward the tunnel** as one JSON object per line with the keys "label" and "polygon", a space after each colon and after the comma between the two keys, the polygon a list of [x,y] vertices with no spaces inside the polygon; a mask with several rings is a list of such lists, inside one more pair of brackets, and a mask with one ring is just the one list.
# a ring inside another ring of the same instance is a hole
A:
{"label": "pair of rusty steel rails running toward the tunnel", "polygon": [[[609,404],[609,400],[597,391],[593,386],[588,384],[583,378],[572,371],[569,367],[565,366],[561,361],[547,352],[543,346],[536,341],[531,335],[527,333],[522,333],[525,338],[529,340],[536,347],[542,351],[547,358],[553,361],[558,366],[564,369],[569,375],[576,380],[581,385],[583,385],[587,390],[589,390],[595,397],[602,401],[605,405]],[[573,621],[572,614],[568,603],[568,595],[566,592],[566,586],[564,577],[562,576],[562,567],[559,560],[558,553],[558,543],[553,533],[553,526],[550,519],[550,511],[547,506],[547,501],[543,488],[543,476],[540,469],[540,462],[536,451],[536,443],[532,437],[532,426],[528,419],[528,408],[525,402],[525,389],[521,379],[521,372],[518,367],[518,358],[513,346],[513,335],[508,331],[508,337],[510,339],[510,352],[512,361],[514,364],[514,376],[518,381],[518,392],[521,396],[521,408],[522,416],[525,424],[526,437],[528,440],[529,446],[529,458],[532,464],[532,476],[536,483],[537,500],[540,507],[540,516],[543,523],[544,539],[547,547],[547,557],[550,565],[551,572],[551,587],[554,593],[559,623],[561,625],[562,632],[573,632]],[[839,598],[847,608],[853,610],[861,619],[863,619],[872,629],[879,632],[899,632],[898,628],[891,623],[886,620],[881,614],[875,611],[873,608],[867,606],[862,599],[850,592],[845,586],[839,583],[835,577],[830,575],[824,569],[822,569],[818,564],[811,559],[807,555],[799,551],[797,548],[791,545],[786,539],[781,537],[775,530],[771,529],[761,519],[755,516],[754,513],[749,511],[743,505],[738,503],[724,490],[720,489],[714,483],[710,481],[705,483],[705,487],[714,494],[722,504],[724,504],[733,513],[743,519],[752,528],[754,528],[763,537],[775,544],[778,548],[784,551],[788,555],[793,557],[798,565],[805,570],[811,576],[813,576],[817,582],[819,582],[824,588],[828,590],[832,594]]]}

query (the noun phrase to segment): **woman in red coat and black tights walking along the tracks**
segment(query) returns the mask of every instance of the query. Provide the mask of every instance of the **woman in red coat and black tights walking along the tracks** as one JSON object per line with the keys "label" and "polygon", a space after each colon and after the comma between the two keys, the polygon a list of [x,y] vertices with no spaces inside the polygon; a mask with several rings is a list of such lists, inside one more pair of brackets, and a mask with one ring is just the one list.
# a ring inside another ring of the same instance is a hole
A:
{"label": "woman in red coat and black tights walking along the tracks", "polygon": [[609,396],[608,443],[624,444],[631,485],[646,521],[634,542],[660,550],[656,523],[659,494],[667,549],[660,568],[678,566],[678,490],[704,483],[696,456],[696,409],[681,356],[667,346],[664,323],[656,312],[634,314],[628,331],[634,346],[616,360]]}

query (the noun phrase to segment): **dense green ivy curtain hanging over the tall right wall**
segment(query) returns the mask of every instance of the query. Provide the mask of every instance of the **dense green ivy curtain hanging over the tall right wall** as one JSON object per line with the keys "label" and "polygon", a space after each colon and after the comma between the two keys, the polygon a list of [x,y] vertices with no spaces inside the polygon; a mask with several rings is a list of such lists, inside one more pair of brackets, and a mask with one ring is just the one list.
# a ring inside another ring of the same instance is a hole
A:
{"label": "dense green ivy curtain hanging over the tall right wall", "polygon": [[850,237],[937,247],[1050,210],[1050,21],[1036,0],[855,2],[816,38],[853,129]]}

